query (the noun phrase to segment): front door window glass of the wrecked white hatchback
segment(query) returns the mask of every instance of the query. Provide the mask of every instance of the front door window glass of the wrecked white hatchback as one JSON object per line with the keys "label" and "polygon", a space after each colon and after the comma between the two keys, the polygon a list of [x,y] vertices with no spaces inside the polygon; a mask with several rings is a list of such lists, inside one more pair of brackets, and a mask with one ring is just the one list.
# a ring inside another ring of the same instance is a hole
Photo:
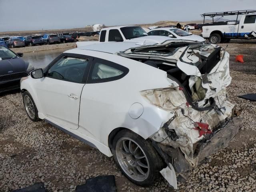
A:
{"label": "front door window glass of the wrecked white hatchback", "polygon": [[62,57],[48,70],[47,77],[83,83],[84,72],[88,65],[89,59]]}

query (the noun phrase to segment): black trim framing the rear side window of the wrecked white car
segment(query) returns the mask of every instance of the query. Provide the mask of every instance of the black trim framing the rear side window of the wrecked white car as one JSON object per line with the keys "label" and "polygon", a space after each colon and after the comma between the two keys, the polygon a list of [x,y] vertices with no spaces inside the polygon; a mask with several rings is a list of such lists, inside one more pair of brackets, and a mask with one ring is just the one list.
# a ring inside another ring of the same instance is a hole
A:
{"label": "black trim framing the rear side window of the wrecked white car", "polygon": [[[114,77],[110,77],[110,78],[104,78],[104,79],[92,79],[92,71],[94,69],[94,66],[95,66],[95,63],[99,60],[104,60],[106,61],[106,63],[102,63],[104,65],[107,65],[107,66],[110,66],[110,67],[113,67],[113,68],[116,68],[118,70],[122,70],[123,73],[121,75],[118,75],[118,76],[114,76]],[[108,62],[111,62],[111,65],[108,63]],[[115,80],[119,80],[121,78],[123,78],[124,76],[126,76],[129,72],[129,69],[123,65],[120,65],[120,64],[117,64],[115,62],[112,62],[112,61],[109,61],[109,60],[106,60],[106,59],[102,59],[102,58],[96,58],[94,57],[94,59],[92,60],[92,65],[91,65],[91,68],[90,68],[90,72],[89,72],[89,75],[88,75],[88,80],[86,83],[88,84],[92,84],[92,83],[104,83],[104,82],[110,82],[110,81],[115,81]]]}

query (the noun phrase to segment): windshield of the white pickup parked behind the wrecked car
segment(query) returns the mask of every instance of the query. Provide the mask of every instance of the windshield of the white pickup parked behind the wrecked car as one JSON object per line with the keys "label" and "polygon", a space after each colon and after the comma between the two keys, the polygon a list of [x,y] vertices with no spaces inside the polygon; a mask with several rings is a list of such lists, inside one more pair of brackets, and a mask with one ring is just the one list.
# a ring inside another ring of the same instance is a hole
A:
{"label": "windshield of the white pickup parked behind the wrecked car", "polygon": [[146,31],[144,31],[144,29],[142,29],[140,26],[122,27],[120,28],[120,30],[122,31],[126,39],[148,36]]}

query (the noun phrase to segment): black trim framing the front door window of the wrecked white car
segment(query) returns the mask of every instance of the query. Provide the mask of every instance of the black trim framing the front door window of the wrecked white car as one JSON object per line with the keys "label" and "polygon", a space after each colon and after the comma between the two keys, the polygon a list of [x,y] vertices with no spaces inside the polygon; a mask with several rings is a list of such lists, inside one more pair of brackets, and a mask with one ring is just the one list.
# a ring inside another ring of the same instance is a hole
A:
{"label": "black trim framing the front door window of the wrecked white car", "polygon": [[[66,79],[57,79],[57,78],[53,78],[48,76],[48,71],[49,69],[56,64],[56,62],[58,62],[61,58],[64,57],[74,57],[74,58],[81,58],[81,59],[89,59],[88,64],[86,66],[85,72],[84,72],[84,76],[82,79],[82,82],[76,82],[76,81],[71,81],[71,80],[66,80]],[[88,79],[88,75],[89,75],[89,71],[92,65],[92,61],[94,60],[94,58],[92,56],[87,56],[87,55],[81,55],[81,54],[74,54],[74,53],[62,53],[60,54],[58,57],[56,57],[52,62],[50,62],[50,64],[48,66],[46,66],[46,68],[44,68],[44,77],[48,77],[48,78],[52,78],[52,79],[56,79],[56,80],[61,80],[61,81],[67,81],[67,82],[72,82],[72,83],[80,83],[80,84],[86,84],[86,81]]]}

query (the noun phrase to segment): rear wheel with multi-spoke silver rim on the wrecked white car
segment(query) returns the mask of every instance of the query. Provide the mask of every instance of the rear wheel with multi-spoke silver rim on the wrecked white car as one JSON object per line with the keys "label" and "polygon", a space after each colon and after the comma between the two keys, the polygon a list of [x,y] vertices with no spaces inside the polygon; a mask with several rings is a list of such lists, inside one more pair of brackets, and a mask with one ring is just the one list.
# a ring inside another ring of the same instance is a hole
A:
{"label": "rear wheel with multi-spoke silver rim on the wrecked white car", "polygon": [[114,137],[112,146],[116,163],[130,181],[139,186],[155,183],[164,162],[149,140],[130,130],[121,130]]}

